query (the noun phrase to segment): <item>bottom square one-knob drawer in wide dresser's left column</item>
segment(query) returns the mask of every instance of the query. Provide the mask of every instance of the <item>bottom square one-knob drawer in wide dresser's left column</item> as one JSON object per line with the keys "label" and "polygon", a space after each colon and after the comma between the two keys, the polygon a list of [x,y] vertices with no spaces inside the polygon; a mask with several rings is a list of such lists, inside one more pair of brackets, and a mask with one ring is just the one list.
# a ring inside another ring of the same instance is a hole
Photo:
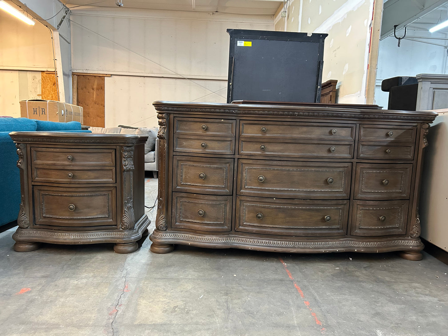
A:
{"label": "bottom square one-knob drawer in wide dresser's left column", "polygon": [[172,194],[171,228],[228,232],[232,223],[232,196]]}

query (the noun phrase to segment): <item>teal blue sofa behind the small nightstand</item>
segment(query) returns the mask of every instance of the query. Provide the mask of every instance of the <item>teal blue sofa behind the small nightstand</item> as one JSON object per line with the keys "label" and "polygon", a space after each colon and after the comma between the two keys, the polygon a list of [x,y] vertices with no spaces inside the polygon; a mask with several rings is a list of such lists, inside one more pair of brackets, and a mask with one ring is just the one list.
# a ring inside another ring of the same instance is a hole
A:
{"label": "teal blue sofa behind the small nightstand", "polygon": [[2,225],[17,220],[20,205],[20,172],[17,152],[9,132],[88,132],[78,121],[53,122],[28,118],[0,118],[0,231]]}

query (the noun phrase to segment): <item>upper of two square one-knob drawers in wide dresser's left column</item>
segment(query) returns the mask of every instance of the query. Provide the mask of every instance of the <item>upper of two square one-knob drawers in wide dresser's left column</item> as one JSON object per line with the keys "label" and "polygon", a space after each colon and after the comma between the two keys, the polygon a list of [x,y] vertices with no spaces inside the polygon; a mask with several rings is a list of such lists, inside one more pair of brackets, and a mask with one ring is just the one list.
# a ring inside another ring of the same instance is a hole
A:
{"label": "upper of two square one-knob drawers in wide dresser's left column", "polygon": [[173,191],[232,194],[233,159],[173,156]]}

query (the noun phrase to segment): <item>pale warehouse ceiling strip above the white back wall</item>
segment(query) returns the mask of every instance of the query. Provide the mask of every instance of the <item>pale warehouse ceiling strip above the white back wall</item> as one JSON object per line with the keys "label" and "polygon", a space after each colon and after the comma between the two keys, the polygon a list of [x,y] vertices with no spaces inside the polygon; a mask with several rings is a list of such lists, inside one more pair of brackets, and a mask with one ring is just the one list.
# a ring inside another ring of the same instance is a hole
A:
{"label": "pale warehouse ceiling strip above the white back wall", "polygon": [[[128,9],[164,9],[196,12],[222,12],[233,14],[274,15],[283,1],[277,0],[69,0],[67,7],[79,5],[89,7],[117,7],[116,2]],[[93,3],[93,4],[92,4]],[[76,7],[83,9],[85,7]]]}

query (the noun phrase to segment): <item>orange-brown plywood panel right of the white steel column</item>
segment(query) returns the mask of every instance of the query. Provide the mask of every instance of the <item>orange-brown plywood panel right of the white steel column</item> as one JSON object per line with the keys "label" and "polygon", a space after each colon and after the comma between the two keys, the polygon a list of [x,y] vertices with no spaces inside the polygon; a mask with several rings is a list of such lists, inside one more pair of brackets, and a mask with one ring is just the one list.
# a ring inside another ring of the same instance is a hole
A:
{"label": "orange-brown plywood panel right of the white steel column", "polygon": [[83,124],[104,127],[104,77],[81,75],[77,77],[78,105],[83,108]]}

